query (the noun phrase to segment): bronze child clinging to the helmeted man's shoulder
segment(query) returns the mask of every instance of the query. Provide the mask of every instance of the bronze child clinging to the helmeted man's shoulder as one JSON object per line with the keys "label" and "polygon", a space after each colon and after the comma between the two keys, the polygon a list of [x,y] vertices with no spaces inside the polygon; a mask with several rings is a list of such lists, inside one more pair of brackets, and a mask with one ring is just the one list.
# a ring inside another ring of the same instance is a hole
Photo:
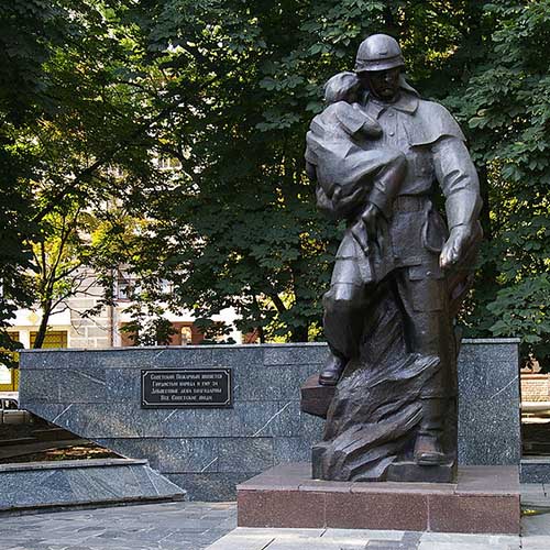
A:
{"label": "bronze child clinging to the helmeted man's shoulder", "polygon": [[391,217],[406,160],[397,150],[370,146],[381,138],[382,128],[359,103],[360,89],[358,75],[348,72],[324,85],[327,107],[314,118],[306,135],[306,165],[323,195],[320,202],[329,202],[331,208],[349,205],[345,213],[355,219],[351,233],[365,255],[364,282],[369,283],[378,279],[370,243],[381,238],[369,231],[370,213],[376,208]]}

